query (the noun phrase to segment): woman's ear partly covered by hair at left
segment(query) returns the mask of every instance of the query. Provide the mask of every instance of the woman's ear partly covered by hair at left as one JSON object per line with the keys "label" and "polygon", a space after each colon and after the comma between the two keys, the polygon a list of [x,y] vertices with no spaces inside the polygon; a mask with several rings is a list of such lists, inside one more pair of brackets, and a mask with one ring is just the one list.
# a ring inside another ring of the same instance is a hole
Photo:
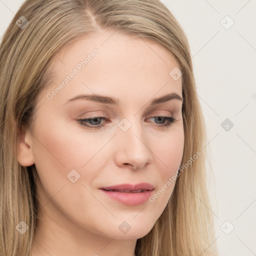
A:
{"label": "woman's ear partly covered by hair at left", "polygon": [[17,160],[23,166],[34,164],[32,134],[22,126],[19,133]]}

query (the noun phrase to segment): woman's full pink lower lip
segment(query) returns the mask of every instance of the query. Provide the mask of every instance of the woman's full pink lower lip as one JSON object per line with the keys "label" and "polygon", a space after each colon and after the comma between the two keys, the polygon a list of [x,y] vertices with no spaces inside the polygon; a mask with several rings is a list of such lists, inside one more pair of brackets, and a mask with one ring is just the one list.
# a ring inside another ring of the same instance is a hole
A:
{"label": "woman's full pink lower lip", "polygon": [[132,193],[132,192],[117,192],[102,190],[106,195],[126,205],[139,205],[147,201],[149,196],[152,194],[152,190],[145,190],[143,192]]}

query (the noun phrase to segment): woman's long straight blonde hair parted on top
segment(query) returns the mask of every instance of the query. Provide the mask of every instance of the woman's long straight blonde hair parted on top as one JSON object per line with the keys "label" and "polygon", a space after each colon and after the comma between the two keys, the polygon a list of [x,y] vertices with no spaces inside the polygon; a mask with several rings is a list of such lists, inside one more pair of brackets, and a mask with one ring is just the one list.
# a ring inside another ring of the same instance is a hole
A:
{"label": "woman's long straight blonde hair parted on top", "polygon": [[[29,22],[24,27],[15,23],[21,16]],[[206,132],[190,49],[182,28],[160,0],[26,0],[13,17],[0,45],[0,253],[28,256],[36,230],[36,169],[18,163],[17,144],[21,127],[31,127],[39,92],[50,84],[49,62],[64,45],[103,29],[139,35],[172,53],[182,72],[181,164],[200,152],[177,177],[153,228],[137,239],[135,253],[216,255],[212,212],[205,206]],[[15,229],[20,221],[29,226],[24,234]]]}

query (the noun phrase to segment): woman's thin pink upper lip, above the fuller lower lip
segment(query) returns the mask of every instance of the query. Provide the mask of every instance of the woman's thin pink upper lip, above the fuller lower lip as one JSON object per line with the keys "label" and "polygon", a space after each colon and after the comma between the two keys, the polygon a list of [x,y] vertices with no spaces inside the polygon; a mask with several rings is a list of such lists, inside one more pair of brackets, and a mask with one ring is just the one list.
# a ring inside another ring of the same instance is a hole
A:
{"label": "woman's thin pink upper lip, above the fuller lower lip", "polygon": [[154,186],[149,183],[138,183],[138,184],[119,184],[119,185],[113,185],[113,186],[106,186],[101,187],[101,189],[107,190],[107,191],[118,191],[118,192],[132,192],[132,193],[139,193],[143,192],[145,190],[152,190]]}

